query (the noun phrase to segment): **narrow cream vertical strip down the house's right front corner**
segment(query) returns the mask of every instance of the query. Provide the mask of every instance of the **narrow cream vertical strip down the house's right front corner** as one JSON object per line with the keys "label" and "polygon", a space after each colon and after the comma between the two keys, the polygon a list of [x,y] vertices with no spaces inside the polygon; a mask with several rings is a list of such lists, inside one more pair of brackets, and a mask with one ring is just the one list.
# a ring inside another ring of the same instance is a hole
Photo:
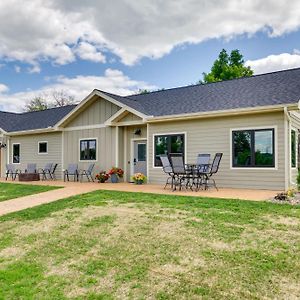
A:
{"label": "narrow cream vertical strip down the house's right front corner", "polygon": [[291,168],[291,159],[290,159],[290,145],[291,145],[291,117],[287,110],[287,107],[284,107],[284,132],[285,132],[285,143],[284,143],[284,152],[285,152],[285,190],[288,190],[291,184],[292,178],[292,168]]}

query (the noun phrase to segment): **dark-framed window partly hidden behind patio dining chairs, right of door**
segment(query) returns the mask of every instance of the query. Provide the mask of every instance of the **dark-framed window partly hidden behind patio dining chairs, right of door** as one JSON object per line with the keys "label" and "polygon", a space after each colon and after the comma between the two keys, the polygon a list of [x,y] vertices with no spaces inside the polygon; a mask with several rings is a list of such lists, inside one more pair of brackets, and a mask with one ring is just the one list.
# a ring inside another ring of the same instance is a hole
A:
{"label": "dark-framed window partly hidden behind patio dining chairs, right of door", "polygon": [[184,134],[156,135],[154,137],[154,165],[162,166],[160,155],[182,153],[184,155]]}

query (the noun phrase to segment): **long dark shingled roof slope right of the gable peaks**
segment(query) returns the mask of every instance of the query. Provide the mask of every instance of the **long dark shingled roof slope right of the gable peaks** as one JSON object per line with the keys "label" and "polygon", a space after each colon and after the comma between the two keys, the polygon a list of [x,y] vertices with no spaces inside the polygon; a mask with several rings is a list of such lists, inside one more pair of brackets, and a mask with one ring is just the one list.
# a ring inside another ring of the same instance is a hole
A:
{"label": "long dark shingled roof slope right of the gable peaks", "polygon": [[127,96],[148,115],[164,116],[297,103],[300,68]]}

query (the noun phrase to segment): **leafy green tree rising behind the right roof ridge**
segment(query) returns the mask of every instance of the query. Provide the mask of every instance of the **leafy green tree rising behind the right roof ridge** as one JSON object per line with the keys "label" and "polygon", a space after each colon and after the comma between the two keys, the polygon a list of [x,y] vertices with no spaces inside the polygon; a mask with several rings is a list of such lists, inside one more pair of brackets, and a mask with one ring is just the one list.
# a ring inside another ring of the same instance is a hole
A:
{"label": "leafy green tree rising behind the right roof ridge", "polygon": [[225,49],[222,49],[218,58],[214,61],[210,72],[203,73],[203,81],[200,81],[200,83],[217,82],[252,75],[253,70],[249,66],[245,66],[243,55],[238,49],[232,50],[230,55]]}

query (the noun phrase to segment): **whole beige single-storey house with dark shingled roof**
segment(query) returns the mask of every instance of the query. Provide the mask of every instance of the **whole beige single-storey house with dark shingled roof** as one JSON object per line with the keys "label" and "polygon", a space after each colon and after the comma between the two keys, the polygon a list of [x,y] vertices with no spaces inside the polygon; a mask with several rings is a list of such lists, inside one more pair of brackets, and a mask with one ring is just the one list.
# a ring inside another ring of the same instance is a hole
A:
{"label": "whole beige single-storey house with dark shingled roof", "polygon": [[300,130],[300,68],[121,97],[94,90],[76,106],[0,112],[1,175],[69,163],[96,171],[119,166],[163,183],[159,155],[223,152],[218,186],[283,190],[295,184]]}

